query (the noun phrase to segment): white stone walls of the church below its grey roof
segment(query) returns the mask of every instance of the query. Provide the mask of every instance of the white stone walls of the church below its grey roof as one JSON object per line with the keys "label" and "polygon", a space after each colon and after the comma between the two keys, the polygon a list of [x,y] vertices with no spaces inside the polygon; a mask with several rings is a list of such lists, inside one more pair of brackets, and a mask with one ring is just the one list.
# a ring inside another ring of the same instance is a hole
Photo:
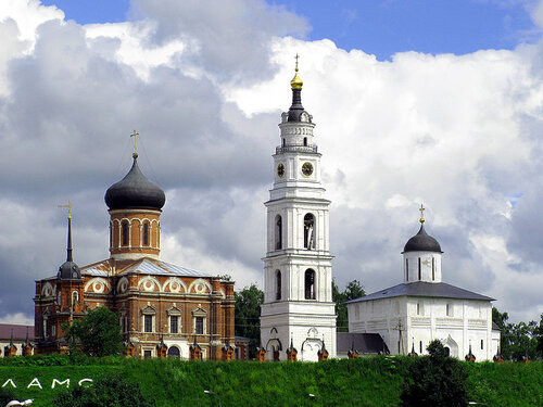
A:
{"label": "white stone walls of the church below its grey roof", "polygon": [[351,303],[348,313],[350,332],[381,334],[393,355],[406,354],[413,345],[417,354],[426,354],[438,339],[453,356],[464,358],[471,344],[477,360],[492,360],[500,344],[500,333],[492,331],[490,301],[401,296]]}

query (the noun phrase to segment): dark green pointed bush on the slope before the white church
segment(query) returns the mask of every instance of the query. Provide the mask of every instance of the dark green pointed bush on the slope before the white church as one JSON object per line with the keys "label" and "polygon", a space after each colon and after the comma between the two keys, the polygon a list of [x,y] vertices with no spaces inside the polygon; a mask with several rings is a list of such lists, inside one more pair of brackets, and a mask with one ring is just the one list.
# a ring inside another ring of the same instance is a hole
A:
{"label": "dark green pointed bush on the slope before the white church", "polygon": [[429,356],[416,358],[402,392],[402,406],[460,407],[468,404],[467,372],[447,356],[439,340],[427,347]]}

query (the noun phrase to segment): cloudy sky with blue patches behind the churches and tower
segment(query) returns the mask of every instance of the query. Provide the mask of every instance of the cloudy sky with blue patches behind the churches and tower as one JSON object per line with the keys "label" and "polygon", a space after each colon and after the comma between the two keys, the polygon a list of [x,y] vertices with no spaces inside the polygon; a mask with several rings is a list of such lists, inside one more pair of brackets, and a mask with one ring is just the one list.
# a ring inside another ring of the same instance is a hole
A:
{"label": "cloudy sky with blue patches behind the churches and tower", "polygon": [[34,281],[109,256],[105,190],[166,191],[161,258],[263,284],[266,212],[300,54],[333,276],[402,282],[427,231],[443,280],[543,313],[543,3],[521,0],[7,0],[0,9],[0,321]]}

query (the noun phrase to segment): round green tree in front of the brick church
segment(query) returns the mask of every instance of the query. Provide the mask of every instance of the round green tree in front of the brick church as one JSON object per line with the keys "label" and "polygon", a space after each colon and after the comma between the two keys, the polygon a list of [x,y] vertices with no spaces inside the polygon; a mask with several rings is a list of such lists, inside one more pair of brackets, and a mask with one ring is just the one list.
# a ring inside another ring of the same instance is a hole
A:
{"label": "round green tree in front of the brick church", "polygon": [[[67,328],[67,327],[64,327]],[[121,355],[123,335],[118,318],[108,307],[98,307],[67,328],[66,338],[89,356]]]}

